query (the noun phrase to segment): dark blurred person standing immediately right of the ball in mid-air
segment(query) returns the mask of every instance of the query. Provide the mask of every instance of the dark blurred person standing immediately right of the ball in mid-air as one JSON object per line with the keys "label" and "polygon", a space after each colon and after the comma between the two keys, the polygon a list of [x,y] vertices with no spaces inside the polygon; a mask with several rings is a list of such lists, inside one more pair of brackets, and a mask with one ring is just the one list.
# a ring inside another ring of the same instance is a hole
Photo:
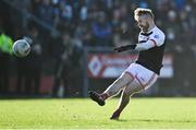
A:
{"label": "dark blurred person standing immediately right of the ball in mid-air", "polygon": [[39,94],[40,79],[41,79],[41,64],[42,64],[42,47],[39,39],[39,32],[36,26],[30,26],[28,36],[33,40],[30,54],[27,56],[27,72],[26,75],[26,94]]}

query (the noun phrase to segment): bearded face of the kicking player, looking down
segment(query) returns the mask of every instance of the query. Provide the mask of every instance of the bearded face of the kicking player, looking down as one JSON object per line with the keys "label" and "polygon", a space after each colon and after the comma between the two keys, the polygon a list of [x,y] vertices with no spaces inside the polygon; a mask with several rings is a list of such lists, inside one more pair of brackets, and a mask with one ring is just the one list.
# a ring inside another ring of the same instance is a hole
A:
{"label": "bearded face of the kicking player, looking down", "polygon": [[148,20],[147,17],[145,16],[138,16],[137,19],[137,25],[139,26],[139,28],[144,32],[147,32],[148,31],[148,27],[149,27],[149,23],[148,23]]}

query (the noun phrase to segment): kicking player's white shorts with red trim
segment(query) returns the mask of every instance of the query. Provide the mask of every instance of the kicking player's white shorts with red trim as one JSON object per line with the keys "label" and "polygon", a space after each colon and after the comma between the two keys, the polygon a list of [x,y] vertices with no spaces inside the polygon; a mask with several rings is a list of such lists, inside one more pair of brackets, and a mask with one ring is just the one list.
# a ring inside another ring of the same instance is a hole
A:
{"label": "kicking player's white shorts with red trim", "polygon": [[133,82],[137,82],[144,90],[150,87],[158,79],[157,73],[138,63],[130,64],[124,73],[130,74],[134,79]]}

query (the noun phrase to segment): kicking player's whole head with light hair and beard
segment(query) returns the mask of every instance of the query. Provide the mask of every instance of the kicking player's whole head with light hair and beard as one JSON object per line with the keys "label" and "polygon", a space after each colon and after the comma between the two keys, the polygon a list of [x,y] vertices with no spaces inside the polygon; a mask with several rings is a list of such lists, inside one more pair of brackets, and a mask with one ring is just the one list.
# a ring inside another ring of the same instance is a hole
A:
{"label": "kicking player's whole head with light hair and beard", "polygon": [[134,19],[143,31],[148,31],[154,23],[154,13],[150,9],[137,8],[134,11]]}

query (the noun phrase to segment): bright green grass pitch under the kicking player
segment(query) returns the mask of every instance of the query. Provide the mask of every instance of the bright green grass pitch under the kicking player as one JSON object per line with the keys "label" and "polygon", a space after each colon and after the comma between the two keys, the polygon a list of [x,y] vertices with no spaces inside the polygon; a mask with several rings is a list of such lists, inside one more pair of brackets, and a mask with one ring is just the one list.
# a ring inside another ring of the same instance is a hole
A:
{"label": "bright green grass pitch under the kicking player", "polygon": [[110,120],[118,99],[2,99],[0,129],[196,129],[196,98],[132,98]]}

